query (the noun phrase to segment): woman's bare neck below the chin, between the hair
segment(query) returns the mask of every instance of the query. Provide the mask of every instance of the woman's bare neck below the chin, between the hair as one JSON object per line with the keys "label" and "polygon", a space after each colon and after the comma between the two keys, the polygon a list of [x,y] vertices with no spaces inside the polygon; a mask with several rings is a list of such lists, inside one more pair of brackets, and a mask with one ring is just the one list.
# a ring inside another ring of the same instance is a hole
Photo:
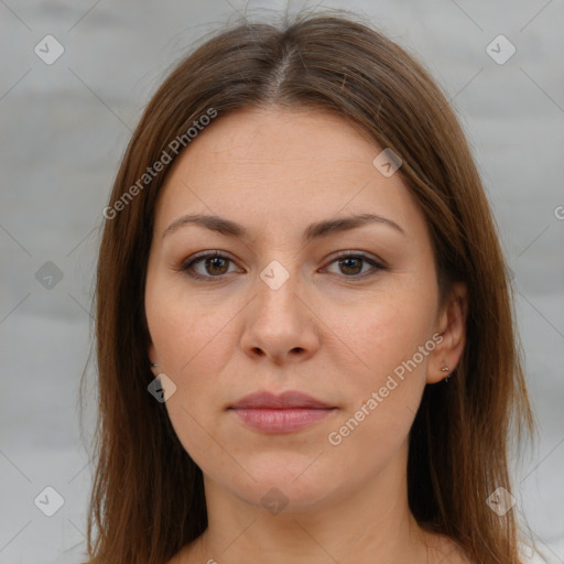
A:
{"label": "woman's bare neck below the chin, between the hair", "polygon": [[408,506],[404,451],[368,482],[292,512],[270,513],[206,477],[208,528],[191,546],[194,561],[426,563],[425,533]]}

